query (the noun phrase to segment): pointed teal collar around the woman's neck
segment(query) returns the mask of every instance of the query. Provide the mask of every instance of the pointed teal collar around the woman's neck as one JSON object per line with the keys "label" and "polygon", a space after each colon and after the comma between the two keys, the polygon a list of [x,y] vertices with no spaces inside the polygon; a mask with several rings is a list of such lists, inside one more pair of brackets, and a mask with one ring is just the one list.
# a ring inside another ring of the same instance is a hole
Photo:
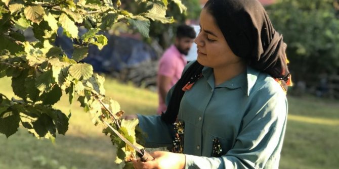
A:
{"label": "pointed teal collar around the woman's neck", "polygon": [[[217,88],[219,87],[227,87],[229,89],[241,88],[244,94],[248,96],[257,81],[259,73],[260,71],[252,69],[249,66],[247,66],[246,71],[218,85]],[[214,88],[213,69],[209,67],[204,67],[202,69],[202,75],[206,78],[207,83],[210,85],[210,87]]]}

